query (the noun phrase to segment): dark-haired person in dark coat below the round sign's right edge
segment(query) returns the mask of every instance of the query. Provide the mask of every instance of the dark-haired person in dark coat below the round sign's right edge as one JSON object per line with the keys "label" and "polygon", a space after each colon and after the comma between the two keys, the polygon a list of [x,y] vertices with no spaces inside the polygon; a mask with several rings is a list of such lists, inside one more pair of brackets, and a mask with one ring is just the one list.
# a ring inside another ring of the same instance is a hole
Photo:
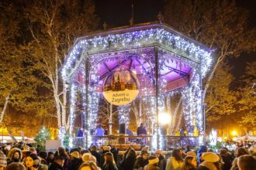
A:
{"label": "dark-haired person in dark coat below the round sign's right edge", "polygon": [[130,148],[126,154],[126,158],[123,158],[121,167],[123,170],[133,170],[133,166],[136,162],[136,151],[133,148]]}

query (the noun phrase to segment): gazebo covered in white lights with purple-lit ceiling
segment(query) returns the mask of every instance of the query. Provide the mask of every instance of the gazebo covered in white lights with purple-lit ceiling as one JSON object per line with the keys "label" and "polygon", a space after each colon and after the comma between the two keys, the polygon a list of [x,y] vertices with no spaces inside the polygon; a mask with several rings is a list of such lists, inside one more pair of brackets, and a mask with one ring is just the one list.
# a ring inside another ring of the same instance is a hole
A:
{"label": "gazebo covered in white lights with purple-lit ceiling", "polygon": [[[103,83],[115,70],[130,70],[140,82],[137,98],[118,106],[119,122],[130,121],[131,107],[139,125],[144,122],[152,135],[150,144],[161,148],[163,135],[175,135],[181,126],[189,136],[203,142],[202,78],[211,63],[211,51],[170,26],[150,22],[92,32],[80,37],[68,53],[62,70],[69,86],[70,134],[74,131],[75,108],[81,93],[81,122],[85,146],[97,122]],[[159,115],[168,114],[167,134],[161,134]],[[158,131],[159,130],[159,131]]]}

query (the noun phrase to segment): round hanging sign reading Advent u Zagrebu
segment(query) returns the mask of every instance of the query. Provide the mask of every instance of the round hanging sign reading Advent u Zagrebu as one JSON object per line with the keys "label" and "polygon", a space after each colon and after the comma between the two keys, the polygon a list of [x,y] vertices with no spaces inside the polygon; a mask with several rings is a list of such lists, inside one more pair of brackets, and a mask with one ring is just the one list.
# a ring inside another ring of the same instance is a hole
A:
{"label": "round hanging sign reading Advent u Zagrebu", "polygon": [[103,83],[103,96],[113,105],[129,104],[137,97],[139,86],[137,76],[130,70],[114,70]]}

